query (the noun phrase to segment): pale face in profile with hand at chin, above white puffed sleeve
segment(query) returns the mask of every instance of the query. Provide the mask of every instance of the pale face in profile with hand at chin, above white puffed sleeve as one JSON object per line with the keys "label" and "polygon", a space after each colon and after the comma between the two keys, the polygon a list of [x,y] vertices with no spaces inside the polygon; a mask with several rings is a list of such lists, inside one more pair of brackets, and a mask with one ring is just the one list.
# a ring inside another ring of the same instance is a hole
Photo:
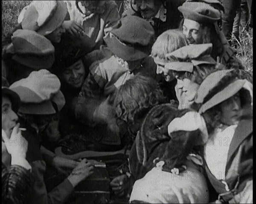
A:
{"label": "pale face in profile with hand at chin, above white puffed sleeve", "polygon": [[194,103],[195,95],[197,93],[199,84],[193,82],[190,79],[180,80],[177,78],[177,85],[175,86],[175,92],[179,101],[179,109],[186,109]]}

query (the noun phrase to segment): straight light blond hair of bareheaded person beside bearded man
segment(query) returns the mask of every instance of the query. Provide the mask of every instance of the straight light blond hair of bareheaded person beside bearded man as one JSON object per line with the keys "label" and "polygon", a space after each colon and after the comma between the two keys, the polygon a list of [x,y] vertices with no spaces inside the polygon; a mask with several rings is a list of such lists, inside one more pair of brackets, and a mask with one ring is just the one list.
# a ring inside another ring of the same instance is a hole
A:
{"label": "straight light blond hair of bareheaded person beside bearded man", "polygon": [[178,29],[170,29],[157,37],[152,46],[151,56],[167,60],[165,55],[189,45],[186,35]]}

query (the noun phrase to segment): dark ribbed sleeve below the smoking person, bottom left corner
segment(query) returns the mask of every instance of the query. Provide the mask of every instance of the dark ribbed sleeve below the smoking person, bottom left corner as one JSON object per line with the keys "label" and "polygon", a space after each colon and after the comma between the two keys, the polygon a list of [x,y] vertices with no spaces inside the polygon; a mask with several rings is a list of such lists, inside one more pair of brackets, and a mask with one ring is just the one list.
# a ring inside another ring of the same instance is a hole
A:
{"label": "dark ribbed sleeve below the smoking person, bottom left corner", "polygon": [[29,170],[12,165],[8,170],[2,163],[3,203],[27,204],[32,192],[33,179]]}

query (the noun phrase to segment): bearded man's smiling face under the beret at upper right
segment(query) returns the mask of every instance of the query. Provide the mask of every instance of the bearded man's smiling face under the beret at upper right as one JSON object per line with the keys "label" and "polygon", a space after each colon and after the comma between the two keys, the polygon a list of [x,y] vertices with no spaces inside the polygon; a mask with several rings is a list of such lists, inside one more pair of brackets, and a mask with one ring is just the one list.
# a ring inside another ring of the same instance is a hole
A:
{"label": "bearded man's smiling face under the beret at upper right", "polygon": [[206,43],[204,39],[209,38],[206,30],[207,27],[203,29],[201,24],[195,20],[184,19],[183,34],[186,35],[189,44]]}

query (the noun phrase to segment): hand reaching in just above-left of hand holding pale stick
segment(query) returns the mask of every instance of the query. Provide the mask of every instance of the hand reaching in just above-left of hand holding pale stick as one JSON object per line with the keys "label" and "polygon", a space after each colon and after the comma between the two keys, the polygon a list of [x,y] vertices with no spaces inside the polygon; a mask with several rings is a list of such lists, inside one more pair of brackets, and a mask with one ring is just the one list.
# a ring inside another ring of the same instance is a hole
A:
{"label": "hand reaching in just above-left of hand holding pale stick", "polygon": [[60,156],[55,156],[52,161],[52,166],[55,167],[58,171],[65,173],[65,169],[74,169],[79,164],[78,161],[71,159],[63,158]]}

